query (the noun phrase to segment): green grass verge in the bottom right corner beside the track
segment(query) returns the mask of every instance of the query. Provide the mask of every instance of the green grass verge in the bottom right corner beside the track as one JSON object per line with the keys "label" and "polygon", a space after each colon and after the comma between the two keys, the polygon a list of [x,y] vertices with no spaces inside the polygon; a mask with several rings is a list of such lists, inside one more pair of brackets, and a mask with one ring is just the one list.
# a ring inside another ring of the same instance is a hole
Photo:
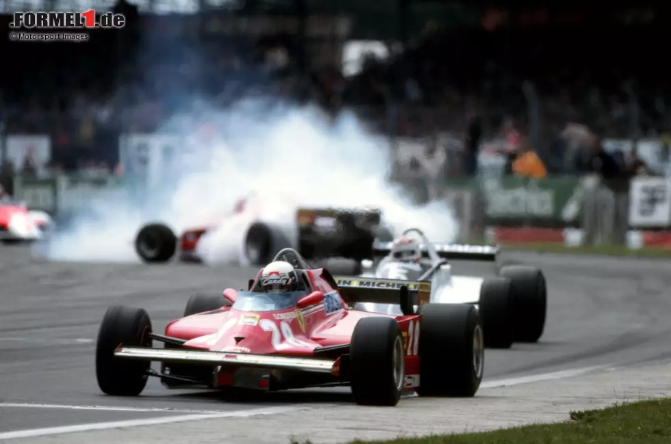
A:
{"label": "green grass verge in the bottom right corner beside the track", "polygon": [[669,444],[671,399],[621,404],[603,410],[571,412],[564,423],[539,424],[493,432],[353,441],[366,444]]}

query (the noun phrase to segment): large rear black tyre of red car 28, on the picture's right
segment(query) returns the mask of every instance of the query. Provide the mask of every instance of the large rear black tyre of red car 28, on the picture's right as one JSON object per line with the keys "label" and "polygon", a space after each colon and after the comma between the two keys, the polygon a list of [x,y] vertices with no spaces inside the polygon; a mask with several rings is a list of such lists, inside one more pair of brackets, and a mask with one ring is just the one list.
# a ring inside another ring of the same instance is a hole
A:
{"label": "large rear black tyre of red car 28, on the picture's right", "polygon": [[475,306],[424,304],[419,312],[418,395],[475,395],[485,368],[483,328]]}

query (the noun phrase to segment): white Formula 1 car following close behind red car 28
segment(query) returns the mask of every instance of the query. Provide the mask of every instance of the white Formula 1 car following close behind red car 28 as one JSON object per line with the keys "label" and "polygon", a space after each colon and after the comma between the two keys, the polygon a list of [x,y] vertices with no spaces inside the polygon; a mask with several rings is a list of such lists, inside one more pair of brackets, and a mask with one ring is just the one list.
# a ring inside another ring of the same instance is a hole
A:
{"label": "white Formula 1 car following close behind red car 28", "polygon": [[[431,282],[431,303],[468,303],[480,311],[485,346],[509,348],[513,342],[537,342],[545,327],[547,293],[541,270],[525,265],[507,265],[498,277],[459,276],[452,272],[448,259],[496,262],[498,247],[431,244],[416,228],[421,257],[415,261],[392,252],[393,243],[377,244],[377,259],[364,261],[364,274],[377,278]],[[396,257],[394,257],[396,256]],[[379,259],[381,257],[381,259]],[[359,309],[400,315],[401,308],[387,304],[358,304]]]}

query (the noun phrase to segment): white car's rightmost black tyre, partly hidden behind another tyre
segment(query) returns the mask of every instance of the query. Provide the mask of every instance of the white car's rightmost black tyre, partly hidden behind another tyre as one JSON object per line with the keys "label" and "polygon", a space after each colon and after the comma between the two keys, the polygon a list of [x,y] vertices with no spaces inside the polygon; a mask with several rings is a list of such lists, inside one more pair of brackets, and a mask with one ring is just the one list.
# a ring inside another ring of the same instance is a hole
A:
{"label": "white car's rightmost black tyre, partly hidden behind another tyre", "polygon": [[535,267],[507,265],[501,276],[510,279],[514,294],[515,341],[537,342],[543,335],[547,313],[547,289],[543,272]]}

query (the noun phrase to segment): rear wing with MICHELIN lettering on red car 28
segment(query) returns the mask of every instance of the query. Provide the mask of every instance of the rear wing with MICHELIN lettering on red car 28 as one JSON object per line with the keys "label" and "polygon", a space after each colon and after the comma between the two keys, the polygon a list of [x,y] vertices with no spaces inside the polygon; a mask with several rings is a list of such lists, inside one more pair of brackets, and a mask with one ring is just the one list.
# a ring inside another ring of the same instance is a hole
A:
{"label": "rear wing with MICHELIN lettering on red car 28", "polygon": [[340,297],[348,304],[372,302],[373,304],[401,304],[405,300],[411,305],[427,304],[431,296],[431,282],[335,276]]}

